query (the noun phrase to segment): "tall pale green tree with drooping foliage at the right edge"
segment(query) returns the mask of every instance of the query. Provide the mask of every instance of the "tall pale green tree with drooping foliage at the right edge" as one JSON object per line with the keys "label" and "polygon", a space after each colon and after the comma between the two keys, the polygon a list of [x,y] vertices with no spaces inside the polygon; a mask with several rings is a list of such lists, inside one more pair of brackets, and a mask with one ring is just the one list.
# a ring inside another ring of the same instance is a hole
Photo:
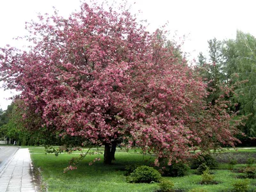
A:
{"label": "tall pale green tree with drooping foliage at the right edge", "polygon": [[235,40],[223,42],[227,79],[236,86],[234,101],[239,103],[241,114],[250,115],[244,132],[256,136],[256,38],[249,33],[237,31]]}

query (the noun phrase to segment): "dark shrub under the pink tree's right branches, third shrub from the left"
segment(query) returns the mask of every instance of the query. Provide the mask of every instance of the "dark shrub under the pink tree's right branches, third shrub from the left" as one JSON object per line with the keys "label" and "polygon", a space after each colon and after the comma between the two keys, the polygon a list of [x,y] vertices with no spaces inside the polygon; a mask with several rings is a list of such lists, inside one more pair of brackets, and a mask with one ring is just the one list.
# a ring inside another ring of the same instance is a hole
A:
{"label": "dark shrub under the pink tree's right branches, third shrub from the left", "polygon": [[210,153],[201,154],[197,159],[193,159],[191,163],[192,169],[197,169],[202,163],[205,163],[210,169],[215,169],[218,166],[218,162]]}

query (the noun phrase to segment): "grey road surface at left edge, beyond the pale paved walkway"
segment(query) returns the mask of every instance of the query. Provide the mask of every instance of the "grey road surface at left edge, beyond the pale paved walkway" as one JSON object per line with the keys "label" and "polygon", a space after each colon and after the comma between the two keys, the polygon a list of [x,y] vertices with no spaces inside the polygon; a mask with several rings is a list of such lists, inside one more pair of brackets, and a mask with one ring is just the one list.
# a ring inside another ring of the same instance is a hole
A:
{"label": "grey road surface at left edge, beyond the pale paved walkway", "polygon": [[18,149],[19,147],[17,146],[0,145],[0,173]]}

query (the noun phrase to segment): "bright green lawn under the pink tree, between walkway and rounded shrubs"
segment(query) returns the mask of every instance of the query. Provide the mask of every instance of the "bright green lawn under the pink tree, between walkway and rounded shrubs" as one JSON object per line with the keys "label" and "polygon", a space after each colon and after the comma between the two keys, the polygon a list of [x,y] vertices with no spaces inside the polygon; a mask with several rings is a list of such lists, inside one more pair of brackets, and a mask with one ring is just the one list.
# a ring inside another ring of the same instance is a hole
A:
{"label": "bright green lawn under the pink tree, between walkway and rounded shrubs", "polygon": [[[102,161],[88,165],[96,157],[103,155],[87,156],[77,170],[63,173],[63,168],[68,166],[68,160],[78,154],[44,153],[44,148],[30,148],[31,159],[35,168],[40,168],[43,181],[47,183],[48,191],[154,191],[157,184],[129,184],[125,181],[125,164],[148,164],[152,157],[143,157],[140,154],[118,152],[115,164],[105,165]],[[40,153],[41,152],[41,153]]]}

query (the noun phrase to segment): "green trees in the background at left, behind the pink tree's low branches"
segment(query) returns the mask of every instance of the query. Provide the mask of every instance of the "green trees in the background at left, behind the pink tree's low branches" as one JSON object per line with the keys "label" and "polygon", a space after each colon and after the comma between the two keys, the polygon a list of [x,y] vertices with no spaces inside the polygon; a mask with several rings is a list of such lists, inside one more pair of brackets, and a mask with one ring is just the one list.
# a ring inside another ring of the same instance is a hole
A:
{"label": "green trees in the background at left, behind the pink tree's low branches", "polygon": [[[26,118],[24,118],[26,111]],[[26,110],[20,99],[3,111],[0,109],[0,140],[8,140],[8,144],[15,145],[77,145],[81,138],[61,136],[61,132],[53,132],[45,127],[44,122],[35,111]],[[55,127],[52,127],[55,129]]]}

